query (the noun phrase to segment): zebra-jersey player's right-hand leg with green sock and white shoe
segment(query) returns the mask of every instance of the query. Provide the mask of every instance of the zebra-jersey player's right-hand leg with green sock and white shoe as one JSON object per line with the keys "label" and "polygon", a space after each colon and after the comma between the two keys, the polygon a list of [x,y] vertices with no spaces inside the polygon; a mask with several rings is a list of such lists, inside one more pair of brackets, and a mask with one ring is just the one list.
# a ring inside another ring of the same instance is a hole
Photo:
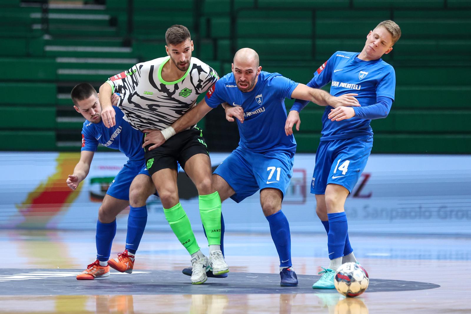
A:
{"label": "zebra-jersey player's right-hand leg with green sock and white shoe", "polygon": [[214,275],[229,272],[221,251],[221,199],[211,180],[211,160],[206,154],[196,154],[185,163],[185,172],[198,190],[201,221],[208,238],[209,268]]}

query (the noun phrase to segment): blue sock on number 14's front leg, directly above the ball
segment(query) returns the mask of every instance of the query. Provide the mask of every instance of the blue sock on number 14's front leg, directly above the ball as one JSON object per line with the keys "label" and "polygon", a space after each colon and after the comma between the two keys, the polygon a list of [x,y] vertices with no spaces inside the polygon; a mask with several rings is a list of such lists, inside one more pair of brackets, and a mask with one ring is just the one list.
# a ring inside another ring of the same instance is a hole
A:
{"label": "blue sock on number 14's front leg, directly above the ball", "polygon": [[329,217],[329,233],[327,234],[329,258],[340,258],[343,256],[348,233],[347,215],[341,212],[327,214],[327,216]]}

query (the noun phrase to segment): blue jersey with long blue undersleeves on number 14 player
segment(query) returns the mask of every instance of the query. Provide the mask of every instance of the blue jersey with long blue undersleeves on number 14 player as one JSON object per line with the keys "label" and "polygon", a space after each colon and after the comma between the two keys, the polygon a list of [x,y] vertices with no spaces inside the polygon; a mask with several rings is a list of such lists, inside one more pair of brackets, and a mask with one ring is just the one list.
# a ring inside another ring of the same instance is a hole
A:
{"label": "blue jersey with long blue undersleeves on number 14 player", "polygon": [[[341,96],[355,93],[361,107],[353,107],[355,116],[342,121],[330,121],[327,118],[333,107],[326,106],[322,116],[321,141],[373,135],[371,119],[384,118],[394,101],[396,75],[393,67],[382,61],[363,61],[357,58],[359,53],[337,51],[314,73],[314,78],[307,84],[312,88],[321,88],[332,81],[330,94]],[[297,100],[291,110],[300,111],[308,101]],[[368,106],[374,105],[370,108]]]}

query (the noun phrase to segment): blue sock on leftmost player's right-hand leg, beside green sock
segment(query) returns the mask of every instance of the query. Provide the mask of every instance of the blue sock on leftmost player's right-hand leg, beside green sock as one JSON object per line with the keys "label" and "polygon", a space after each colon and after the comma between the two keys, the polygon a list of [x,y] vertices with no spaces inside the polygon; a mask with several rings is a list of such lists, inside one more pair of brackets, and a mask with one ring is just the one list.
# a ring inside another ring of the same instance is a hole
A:
{"label": "blue sock on leftmost player's right-hand leg, beside green sock", "polygon": [[129,207],[128,233],[126,234],[126,250],[136,254],[147,223],[147,207]]}

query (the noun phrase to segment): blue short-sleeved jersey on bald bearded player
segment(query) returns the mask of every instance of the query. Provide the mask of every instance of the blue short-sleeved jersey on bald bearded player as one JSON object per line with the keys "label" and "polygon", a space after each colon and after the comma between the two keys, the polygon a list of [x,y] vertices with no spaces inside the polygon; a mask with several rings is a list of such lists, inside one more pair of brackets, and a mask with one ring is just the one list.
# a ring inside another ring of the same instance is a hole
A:
{"label": "blue short-sleeved jersey on bald bearded player", "polygon": [[231,72],[216,82],[211,88],[213,90],[210,89],[206,94],[205,101],[212,108],[224,102],[242,106],[244,123],[235,119],[242,148],[254,153],[282,150],[294,154],[296,141],[292,135],[286,136],[284,132],[284,98],[290,98],[298,84],[279,73],[261,71],[254,89],[243,93],[237,88]]}

